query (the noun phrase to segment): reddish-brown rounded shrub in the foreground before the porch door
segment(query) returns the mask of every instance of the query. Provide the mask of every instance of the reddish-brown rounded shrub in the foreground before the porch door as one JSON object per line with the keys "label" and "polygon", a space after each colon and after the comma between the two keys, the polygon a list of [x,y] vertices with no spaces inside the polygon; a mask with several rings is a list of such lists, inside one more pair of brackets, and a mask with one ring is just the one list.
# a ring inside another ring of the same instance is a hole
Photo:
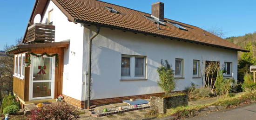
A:
{"label": "reddish-brown rounded shrub in the foreground before the porch door", "polygon": [[67,102],[44,105],[41,109],[33,110],[31,115],[32,120],[70,120],[78,117],[78,109]]}

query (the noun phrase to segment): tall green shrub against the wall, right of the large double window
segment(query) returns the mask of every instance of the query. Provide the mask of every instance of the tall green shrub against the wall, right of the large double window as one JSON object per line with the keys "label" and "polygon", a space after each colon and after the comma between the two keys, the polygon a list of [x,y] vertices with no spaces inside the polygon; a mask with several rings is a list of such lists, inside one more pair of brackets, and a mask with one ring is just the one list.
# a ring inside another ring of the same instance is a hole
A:
{"label": "tall green shrub against the wall, right of the large double window", "polygon": [[171,65],[165,60],[165,63],[161,60],[161,66],[157,68],[157,72],[160,78],[158,85],[165,93],[170,93],[175,89],[174,70],[171,69]]}

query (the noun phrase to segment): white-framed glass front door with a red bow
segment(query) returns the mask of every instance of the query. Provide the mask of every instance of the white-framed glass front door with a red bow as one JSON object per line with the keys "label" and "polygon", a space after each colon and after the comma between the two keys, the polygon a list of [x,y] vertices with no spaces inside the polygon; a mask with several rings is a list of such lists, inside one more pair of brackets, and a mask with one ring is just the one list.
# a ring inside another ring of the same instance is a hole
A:
{"label": "white-framed glass front door with a red bow", "polygon": [[31,56],[31,100],[54,98],[54,62],[55,57]]}

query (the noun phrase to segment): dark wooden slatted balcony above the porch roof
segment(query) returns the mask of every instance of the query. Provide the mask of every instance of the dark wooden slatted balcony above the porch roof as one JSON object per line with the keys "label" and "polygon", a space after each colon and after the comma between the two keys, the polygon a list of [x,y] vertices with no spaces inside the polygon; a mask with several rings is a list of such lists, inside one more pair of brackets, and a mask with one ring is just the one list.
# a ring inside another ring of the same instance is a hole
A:
{"label": "dark wooden slatted balcony above the porch roof", "polygon": [[54,42],[55,26],[35,23],[27,28],[26,43]]}

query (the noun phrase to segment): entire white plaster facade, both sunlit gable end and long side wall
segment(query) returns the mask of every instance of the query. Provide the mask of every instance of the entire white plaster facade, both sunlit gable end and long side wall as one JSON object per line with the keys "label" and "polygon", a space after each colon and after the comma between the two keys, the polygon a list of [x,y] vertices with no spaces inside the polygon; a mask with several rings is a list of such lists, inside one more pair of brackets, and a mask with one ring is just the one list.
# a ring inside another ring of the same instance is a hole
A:
{"label": "entire white plaster facade, both sunlit gable end and long side wall", "polygon": [[[47,21],[48,11],[52,9],[55,42],[70,41],[64,55],[62,93],[84,101],[88,39],[95,33],[96,27],[69,22],[52,1],[43,22]],[[237,51],[104,27],[101,27],[92,44],[92,100],[163,92],[157,85],[159,78],[156,71],[161,59],[168,60],[173,66],[176,58],[183,59],[183,79],[177,79],[176,91],[184,90],[191,82],[202,85],[202,78],[193,78],[193,60],[200,60],[201,69],[205,61],[219,61],[221,65],[231,62],[231,72],[237,79]],[[147,80],[120,81],[122,54],[146,56]]]}

